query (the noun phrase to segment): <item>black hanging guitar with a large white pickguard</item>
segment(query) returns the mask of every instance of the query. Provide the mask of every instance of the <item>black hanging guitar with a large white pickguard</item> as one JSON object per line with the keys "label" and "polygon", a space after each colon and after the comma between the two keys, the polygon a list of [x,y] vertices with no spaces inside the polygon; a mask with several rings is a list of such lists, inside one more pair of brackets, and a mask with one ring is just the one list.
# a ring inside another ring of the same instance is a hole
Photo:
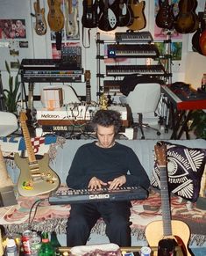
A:
{"label": "black hanging guitar with a large white pickguard", "polygon": [[101,11],[98,21],[99,29],[103,31],[111,31],[117,27],[118,2],[118,0],[113,0],[112,4],[109,4],[109,0],[100,2],[99,7]]}

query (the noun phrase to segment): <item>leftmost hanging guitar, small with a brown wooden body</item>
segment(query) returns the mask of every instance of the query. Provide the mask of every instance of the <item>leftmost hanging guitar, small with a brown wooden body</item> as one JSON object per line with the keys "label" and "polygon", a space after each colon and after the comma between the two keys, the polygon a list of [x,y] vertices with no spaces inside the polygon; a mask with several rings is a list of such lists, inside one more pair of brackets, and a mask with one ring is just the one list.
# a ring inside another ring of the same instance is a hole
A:
{"label": "leftmost hanging guitar, small with a brown wooden body", "polygon": [[35,25],[35,32],[38,35],[46,34],[46,19],[45,19],[45,8],[40,8],[39,0],[33,3],[33,8],[35,11],[36,17],[36,25]]}

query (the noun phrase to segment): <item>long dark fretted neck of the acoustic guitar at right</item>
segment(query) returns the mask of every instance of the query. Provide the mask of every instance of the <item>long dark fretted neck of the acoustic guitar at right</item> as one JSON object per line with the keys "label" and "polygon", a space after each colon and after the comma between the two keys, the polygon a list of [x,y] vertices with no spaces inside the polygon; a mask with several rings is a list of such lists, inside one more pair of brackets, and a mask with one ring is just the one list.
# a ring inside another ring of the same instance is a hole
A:
{"label": "long dark fretted neck of the acoustic guitar at right", "polygon": [[163,220],[163,230],[165,236],[172,235],[171,211],[169,205],[167,168],[160,166],[160,187],[161,187],[161,210]]}

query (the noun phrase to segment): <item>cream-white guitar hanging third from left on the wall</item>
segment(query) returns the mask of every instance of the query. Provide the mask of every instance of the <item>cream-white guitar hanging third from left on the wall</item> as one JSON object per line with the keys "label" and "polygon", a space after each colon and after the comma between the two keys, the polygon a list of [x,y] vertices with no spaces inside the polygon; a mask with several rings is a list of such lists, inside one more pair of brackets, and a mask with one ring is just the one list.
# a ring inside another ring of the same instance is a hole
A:
{"label": "cream-white guitar hanging third from left on the wall", "polygon": [[67,36],[75,37],[79,33],[77,22],[77,1],[67,0],[66,2],[66,33]]}

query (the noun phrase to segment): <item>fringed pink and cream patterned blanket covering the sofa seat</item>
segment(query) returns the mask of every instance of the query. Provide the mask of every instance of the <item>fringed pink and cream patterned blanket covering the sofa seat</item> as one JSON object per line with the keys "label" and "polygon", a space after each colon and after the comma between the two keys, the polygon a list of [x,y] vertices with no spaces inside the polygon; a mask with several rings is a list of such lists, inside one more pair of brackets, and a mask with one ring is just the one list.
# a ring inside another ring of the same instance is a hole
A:
{"label": "fringed pink and cream patterned blanket covering the sofa seat", "polygon": [[[67,187],[61,185],[60,190]],[[148,199],[131,201],[131,234],[139,240],[145,238],[148,223],[162,220],[159,191],[151,191]],[[0,208],[0,224],[9,232],[22,233],[24,230],[55,230],[66,233],[67,218],[70,205],[50,205],[48,195],[38,197],[18,197],[18,205]],[[177,196],[171,197],[172,219],[181,220],[188,224],[191,230],[190,245],[202,245],[206,242],[206,211],[198,209],[195,204],[181,201]],[[105,223],[102,219],[94,226],[92,232],[105,234]]]}

